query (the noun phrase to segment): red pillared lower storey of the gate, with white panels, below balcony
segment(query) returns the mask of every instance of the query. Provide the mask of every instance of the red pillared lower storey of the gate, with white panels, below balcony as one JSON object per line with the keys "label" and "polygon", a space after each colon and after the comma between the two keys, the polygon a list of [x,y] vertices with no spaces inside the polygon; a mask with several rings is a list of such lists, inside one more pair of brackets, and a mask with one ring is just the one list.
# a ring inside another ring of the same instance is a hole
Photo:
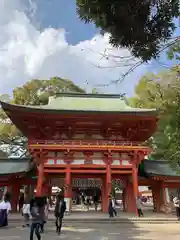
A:
{"label": "red pillared lower storey of the gate, with white panels, below balcony", "polygon": [[[103,212],[107,212],[108,196],[112,190],[111,182],[113,179],[118,179],[123,181],[126,186],[124,200],[127,211],[135,211],[135,198],[138,195],[137,167],[144,156],[149,154],[147,147],[122,146],[122,143],[119,147],[117,145],[113,147],[112,143],[108,146],[106,141],[101,141],[100,147],[99,145],[89,146],[88,141],[77,140],[74,142],[66,140],[56,142],[56,144],[48,143],[47,141],[44,144],[40,142],[29,144],[30,152],[34,159],[38,159],[39,164],[37,195],[42,195],[45,191],[43,189],[44,178],[46,178],[46,187],[51,179],[64,178],[66,198],[72,198],[73,179],[100,179],[102,182],[102,209]],[[97,143],[98,141],[96,141]],[[71,150],[67,151],[69,144],[71,144]],[[86,148],[88,148],[88,152],[86,152]]]}

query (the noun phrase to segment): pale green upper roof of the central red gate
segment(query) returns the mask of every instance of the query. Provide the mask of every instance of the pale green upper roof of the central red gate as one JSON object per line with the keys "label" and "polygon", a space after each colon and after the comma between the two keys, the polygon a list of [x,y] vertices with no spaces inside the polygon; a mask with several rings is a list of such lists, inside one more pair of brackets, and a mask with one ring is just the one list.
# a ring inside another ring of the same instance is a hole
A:
{"label": "pale green upper roof of the central red gate", "polygon": [[[2,107],[9,104],[1,102]],[[18,105],[15,105],[18,106]],[[20,106],[22,107],[22,106]],[[123,112],[155,114],[156,109],[131,108],[120,95],[62,93],[49,98],[47,105],[23,106],[30,110],[74,111],[74,112]]]}

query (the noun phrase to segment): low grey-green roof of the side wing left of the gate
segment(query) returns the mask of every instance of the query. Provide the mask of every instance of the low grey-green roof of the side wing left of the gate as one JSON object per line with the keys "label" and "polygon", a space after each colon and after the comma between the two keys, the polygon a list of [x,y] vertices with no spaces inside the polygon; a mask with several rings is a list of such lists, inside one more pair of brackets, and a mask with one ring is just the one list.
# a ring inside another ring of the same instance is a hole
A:
{"label": "low grey-green roof of the side wing left of the gate", "polygon": [[29,172],[31,168],[28,158],[0,158],[0,175]]}

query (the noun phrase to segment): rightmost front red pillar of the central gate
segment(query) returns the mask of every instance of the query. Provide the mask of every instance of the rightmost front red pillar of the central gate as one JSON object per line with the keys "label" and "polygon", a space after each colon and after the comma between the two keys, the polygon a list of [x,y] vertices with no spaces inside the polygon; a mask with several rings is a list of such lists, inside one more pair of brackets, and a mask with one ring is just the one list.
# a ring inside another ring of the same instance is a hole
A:
{"label": "rightmost front red pillar of the central gate", "polygon": [[133,195],[134,195],[134,201],[133,201],[134,212],[136,213],[136,215],[138,215],[137,207],[136,207],[136,199],[138,197],[139,190],[138,190],[138,170],[137,170],[136,163],[133,163],[133,166],[132,166],[132,184],[133,184]]}

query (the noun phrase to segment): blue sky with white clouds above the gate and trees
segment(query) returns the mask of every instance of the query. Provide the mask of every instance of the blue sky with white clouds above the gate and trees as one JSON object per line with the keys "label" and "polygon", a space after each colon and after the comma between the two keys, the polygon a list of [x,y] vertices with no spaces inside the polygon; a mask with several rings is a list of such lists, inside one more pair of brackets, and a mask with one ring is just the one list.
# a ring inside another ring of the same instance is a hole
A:
{"label": "blue sky with white clouds above the gate and trees", "polygon": [[80,21],[75,0],[4,0],[0,27],[0,94],[12,94],[15,87],[33,78],[59,76],[87,91],[100,84],[99,92],[131,96],[143,74],[165,69],[159,62],[175,64],[164,52],[159,61],[141,65],[121,84],[108,85],[128,69],[114,68],[114,59],[102,59],[102,54],[108,50],[108,54],[130,56],[130,52],[112,48],[107,35],[100,36],[93,24]]}

